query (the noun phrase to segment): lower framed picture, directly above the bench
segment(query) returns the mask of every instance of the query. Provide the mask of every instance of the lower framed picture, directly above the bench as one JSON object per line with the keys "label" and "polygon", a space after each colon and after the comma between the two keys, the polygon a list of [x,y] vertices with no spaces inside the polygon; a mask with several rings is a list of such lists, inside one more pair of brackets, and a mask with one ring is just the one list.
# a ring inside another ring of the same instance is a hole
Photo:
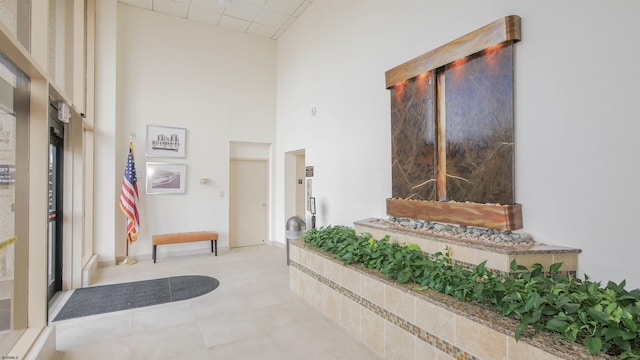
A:
{"label": "lower framed picture, directly above the bench", "polygon": [[183,194],[187,165],[147,163],[147,194]]}

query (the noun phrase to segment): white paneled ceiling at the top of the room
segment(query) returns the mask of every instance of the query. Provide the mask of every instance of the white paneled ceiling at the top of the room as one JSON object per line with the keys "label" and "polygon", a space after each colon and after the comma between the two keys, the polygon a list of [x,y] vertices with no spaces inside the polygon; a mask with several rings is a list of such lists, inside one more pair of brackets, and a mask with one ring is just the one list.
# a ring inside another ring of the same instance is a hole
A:
{"label": "white paneled ceiling at the top of the room", "polygon": [[118,0],[164,14],[277,40],[313,0]]}

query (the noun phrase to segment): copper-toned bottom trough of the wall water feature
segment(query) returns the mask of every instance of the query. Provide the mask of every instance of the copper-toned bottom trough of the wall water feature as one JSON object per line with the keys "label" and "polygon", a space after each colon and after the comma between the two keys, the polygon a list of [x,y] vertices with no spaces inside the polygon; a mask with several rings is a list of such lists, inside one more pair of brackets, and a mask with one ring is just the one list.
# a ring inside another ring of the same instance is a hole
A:
{"label": "copper-toned bottom trough of the wall water feature", "polygon": [[520,204],[387,199],[387,214],[489,229],[522,229],[522,205]]}

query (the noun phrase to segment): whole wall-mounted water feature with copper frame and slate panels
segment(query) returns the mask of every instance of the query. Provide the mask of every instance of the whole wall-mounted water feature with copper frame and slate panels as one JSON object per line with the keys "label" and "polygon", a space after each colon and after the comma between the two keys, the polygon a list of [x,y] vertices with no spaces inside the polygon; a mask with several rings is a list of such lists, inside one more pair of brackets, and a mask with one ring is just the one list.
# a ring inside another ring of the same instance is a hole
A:
{"label": "whole wall-mounted water feature with copper frame and slate panels", "polygon": [[513,57],[519,40],[520,18],[507,16],[386,72],[389,215],[522,227],[514,199]]}

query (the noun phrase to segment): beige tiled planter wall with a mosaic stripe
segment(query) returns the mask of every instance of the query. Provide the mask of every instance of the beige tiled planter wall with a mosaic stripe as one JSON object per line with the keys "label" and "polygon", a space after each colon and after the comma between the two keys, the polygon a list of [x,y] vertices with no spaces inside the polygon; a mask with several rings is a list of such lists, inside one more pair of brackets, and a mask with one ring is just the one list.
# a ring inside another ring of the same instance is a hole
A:
{"label": "beige tiled planter wall with a mosaic stripe", "polygon": [[290,259],[291,290],[386,359],[592,358],[556,336],[516,342],[510,319],[345,267],[302,241],[291,242]]}

